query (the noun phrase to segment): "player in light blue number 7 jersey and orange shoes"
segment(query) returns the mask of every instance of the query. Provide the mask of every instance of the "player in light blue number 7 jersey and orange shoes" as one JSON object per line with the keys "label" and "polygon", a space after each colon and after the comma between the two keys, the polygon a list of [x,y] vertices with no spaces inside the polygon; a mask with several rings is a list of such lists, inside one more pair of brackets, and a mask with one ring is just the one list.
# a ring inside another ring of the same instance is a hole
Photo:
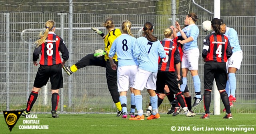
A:
{"label": "player in light blue number 7 jersey and orange shoes", "polygon": [[146,22],[143,26],[142,37],[136,39],[133,56],[138,58],[139,69],[134,78],[134,99],[138,111],[138,115],[129,118],[129,120],[144,120],[142,109],[142,95],[140,91],[144,88],[148,89],[150,95],[150,103],[152,105],[152,115],[148,120],[160,118],[157,108],[156,95],[156,75],[158,70],[158,56],[165,58],[166,54],[160,41],[155,37],[153,32],[153,24]]}

